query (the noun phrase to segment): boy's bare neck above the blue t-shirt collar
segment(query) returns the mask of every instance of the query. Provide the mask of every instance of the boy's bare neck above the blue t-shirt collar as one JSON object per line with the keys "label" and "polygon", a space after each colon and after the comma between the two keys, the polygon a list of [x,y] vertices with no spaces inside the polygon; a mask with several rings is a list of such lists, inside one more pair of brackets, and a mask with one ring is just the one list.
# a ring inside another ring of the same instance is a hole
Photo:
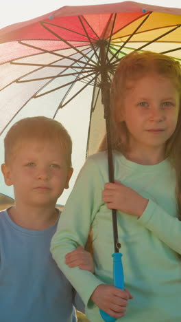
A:
{"label": "boy's bare neck above the blue t-shirt collar", "polygon": [[22,228],[30,230],[45,230],[58,219],[58,211],[54,207],[27,207],[16,204],[8,210],[12,221]]}

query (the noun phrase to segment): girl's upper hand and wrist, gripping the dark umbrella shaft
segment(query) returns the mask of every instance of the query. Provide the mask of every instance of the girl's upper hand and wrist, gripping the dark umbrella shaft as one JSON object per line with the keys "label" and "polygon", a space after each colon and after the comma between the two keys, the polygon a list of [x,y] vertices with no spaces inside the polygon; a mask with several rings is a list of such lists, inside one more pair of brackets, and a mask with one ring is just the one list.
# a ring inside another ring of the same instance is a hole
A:
{"label": "girl's upper hand and wrist, gripping the dark umbrella shaft", "polygon": [[102,199],[108,209],[117,209],[130,215],[140,217],[145,210],[148,200],[136,191],[115,180],[115,183],[106,183]]}

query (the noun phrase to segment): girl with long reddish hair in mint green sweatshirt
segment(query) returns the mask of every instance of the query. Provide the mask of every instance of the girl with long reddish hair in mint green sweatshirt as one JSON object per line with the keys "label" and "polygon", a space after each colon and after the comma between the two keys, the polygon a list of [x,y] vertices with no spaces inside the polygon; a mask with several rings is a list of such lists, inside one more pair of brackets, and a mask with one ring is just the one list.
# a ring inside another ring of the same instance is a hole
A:
{"label": "girl with long reddish hair in mint green sweatshirt", "polygon": [[[91,322],[103,321],[99,308],[117,321],[123,315],[125,322],[181,321],[180,94],[180,64],[162,54],[128,54],[114,74],[115,183],[108,183],[104,139],[102,151],[90,156],[80,171],[51,242],[53,258],[80,292]],[[118,210],[130,292],[112,286],[111,208]],[[67,253],[84,246],[90,227],[95,275],[64,263]]]}

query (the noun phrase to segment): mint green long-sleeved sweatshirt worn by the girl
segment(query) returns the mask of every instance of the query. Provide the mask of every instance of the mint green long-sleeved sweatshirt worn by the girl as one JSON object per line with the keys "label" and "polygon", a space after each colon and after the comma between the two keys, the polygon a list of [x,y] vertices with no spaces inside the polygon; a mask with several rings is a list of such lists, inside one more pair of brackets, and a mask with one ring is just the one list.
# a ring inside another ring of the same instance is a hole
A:
{"label": "mint green long-sleeved sweatshirt worn by the girl", "polygon": [[[149,199],[139,219],[117,212],[125,288],[134,296],[117,321],[180,322],[181,222],[176,217],[175,170],[168,160],[147,166],[115,153],[114,178]],[[91,294],[101,283],[113,284],[112,215],[101,197],[106,182],[108,161],[100,152],[86,160],[51,241],[53,258],[87,305],[90,322],[103,321]],[[95,275],[64,264],[67,253],[86,244],[90,227]]]}

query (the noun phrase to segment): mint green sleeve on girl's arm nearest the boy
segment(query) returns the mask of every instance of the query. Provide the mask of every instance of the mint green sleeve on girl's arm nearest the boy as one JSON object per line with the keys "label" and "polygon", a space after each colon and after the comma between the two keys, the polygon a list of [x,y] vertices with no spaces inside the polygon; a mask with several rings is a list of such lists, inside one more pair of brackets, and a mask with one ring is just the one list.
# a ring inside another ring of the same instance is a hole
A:
{"label": "mint green sleeve on girl's arm nearest the boy", "polygon": [[64,257],[77,246],[85,246],[90,227],[102,204],[103,182],[95,160],[86,160],[77,177],[73,191],[60,215],[58,228],[51,240],[51,253],[59,268],[69,279],[85,304],[91,294],[103,282],[93,273],[69,268],[64,264]]}

